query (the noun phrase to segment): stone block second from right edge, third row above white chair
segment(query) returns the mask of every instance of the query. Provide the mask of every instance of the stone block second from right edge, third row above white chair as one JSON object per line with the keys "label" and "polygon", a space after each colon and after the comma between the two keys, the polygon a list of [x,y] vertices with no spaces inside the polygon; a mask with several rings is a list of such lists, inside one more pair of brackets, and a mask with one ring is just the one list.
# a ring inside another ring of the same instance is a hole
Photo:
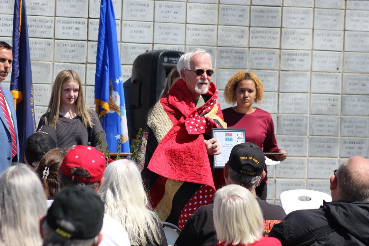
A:
{"label": "stone block second from right edge, third row above white chair", "polygon": [[310,137],[309,156],[337,157],[338,138],[335,137]]}

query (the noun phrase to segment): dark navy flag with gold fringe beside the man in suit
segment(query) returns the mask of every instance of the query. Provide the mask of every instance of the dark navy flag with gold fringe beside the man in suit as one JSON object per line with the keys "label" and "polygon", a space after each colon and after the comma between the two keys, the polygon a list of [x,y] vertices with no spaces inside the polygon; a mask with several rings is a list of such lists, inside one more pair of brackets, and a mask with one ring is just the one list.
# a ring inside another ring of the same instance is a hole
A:
{"label": "dark navy flag with gold fringe beside the man in suit", "polygon": [[17,112],[19,160],[23,161],[27,138],[36,131],[25,0],[14,1],[12,65],[10,91]]}

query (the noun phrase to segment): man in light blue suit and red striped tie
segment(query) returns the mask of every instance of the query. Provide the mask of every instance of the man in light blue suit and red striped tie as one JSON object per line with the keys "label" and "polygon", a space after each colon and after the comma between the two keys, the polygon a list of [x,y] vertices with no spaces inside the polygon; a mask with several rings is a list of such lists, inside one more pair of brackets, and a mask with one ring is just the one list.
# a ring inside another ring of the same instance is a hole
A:
{"label": "man in light blue suit and red striped tie", "polygon": [[0,41],[0,173],[12,162],[18,162],[18,129],[14,98],[1,82],[8,76],[13,62],[11,46]]}

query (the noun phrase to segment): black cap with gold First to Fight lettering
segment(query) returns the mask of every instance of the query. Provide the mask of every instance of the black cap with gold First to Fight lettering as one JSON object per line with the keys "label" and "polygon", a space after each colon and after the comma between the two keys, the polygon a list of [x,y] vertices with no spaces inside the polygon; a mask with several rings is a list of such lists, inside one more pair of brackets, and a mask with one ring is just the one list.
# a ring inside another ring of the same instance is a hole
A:
{"label": "black cap with gold First to Fight lettering", "polygon": [[[237,173],[260,176],[264,170],[265,156],[263,150],[254,143],[240,143],[232,148],[228,165]],[[249,165],[254,170],[249,170]]]}

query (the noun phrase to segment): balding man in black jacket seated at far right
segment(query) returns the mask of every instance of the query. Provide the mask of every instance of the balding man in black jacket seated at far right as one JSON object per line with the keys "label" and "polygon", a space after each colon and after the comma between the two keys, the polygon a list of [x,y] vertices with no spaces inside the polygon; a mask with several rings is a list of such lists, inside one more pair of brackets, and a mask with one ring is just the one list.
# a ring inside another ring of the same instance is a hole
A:
{"label": "balding man in black jacket seated at far right", "polygon": [[369,245],[369,161],[354,156],[330,179],[332,202],[297,210],[273,226],[269,236],[289,245]]}

